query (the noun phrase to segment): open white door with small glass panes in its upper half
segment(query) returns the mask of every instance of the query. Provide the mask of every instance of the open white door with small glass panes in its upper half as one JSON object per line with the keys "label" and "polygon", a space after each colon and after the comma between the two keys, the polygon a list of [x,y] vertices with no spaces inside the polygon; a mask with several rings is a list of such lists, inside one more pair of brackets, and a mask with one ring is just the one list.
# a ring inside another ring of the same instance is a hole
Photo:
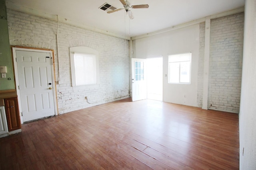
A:
{"label": "open white door with small glass panes in its upper half", "polygon": [[147,98],[146,59],[132,58],[132,101]]}

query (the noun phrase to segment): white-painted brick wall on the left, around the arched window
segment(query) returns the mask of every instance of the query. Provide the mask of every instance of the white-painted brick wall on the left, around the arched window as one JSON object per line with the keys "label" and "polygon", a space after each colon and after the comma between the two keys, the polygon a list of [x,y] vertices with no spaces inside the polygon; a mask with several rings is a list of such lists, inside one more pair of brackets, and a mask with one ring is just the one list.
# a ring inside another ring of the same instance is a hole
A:
{"label": "white-painted brick wall on the left, around the arched window", "polygon": [[[94,31],[7,9],[10,45],[54,50],[59,113],[129,96],[129,42]],[[100,84],[71,86],[69,48],[86,46],[99,52]],[[60,77],[58,74],[60,64]],[[86,102],[88,97],[90,103]]]}

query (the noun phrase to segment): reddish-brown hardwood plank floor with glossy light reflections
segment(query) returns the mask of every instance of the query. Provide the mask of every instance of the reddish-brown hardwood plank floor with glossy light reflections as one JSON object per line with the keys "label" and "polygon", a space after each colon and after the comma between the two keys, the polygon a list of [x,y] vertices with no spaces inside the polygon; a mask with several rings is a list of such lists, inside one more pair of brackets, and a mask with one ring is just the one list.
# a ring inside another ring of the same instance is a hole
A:
{"label": "reddish-brown hardwood plank floor with glossy light reflections", "polygon": [[1,170],[239,169],[238,115],[130,98],[22,125]]}

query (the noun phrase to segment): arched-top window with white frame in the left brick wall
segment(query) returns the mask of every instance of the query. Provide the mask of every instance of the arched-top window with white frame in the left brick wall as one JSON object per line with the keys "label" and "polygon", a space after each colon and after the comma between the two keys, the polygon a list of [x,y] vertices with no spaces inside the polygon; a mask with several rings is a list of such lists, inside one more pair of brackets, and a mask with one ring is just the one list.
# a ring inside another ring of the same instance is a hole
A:
{"label": "arched-top window with white frame in the left brick wall", "polygon": [[70,63],[72,86],[97,84],[98,57],[96,51],[88,47],[71,47]]}

